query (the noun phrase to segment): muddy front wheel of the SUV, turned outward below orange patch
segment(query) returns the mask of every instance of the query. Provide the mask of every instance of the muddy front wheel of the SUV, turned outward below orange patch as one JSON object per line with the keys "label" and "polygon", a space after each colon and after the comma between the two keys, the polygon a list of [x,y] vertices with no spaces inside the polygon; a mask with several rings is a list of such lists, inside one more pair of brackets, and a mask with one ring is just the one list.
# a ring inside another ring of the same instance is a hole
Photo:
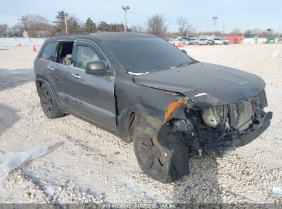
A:
{"label": "muddy front wheel of the SUV, turned outward below orange patch", "polygon": [[140,124],[133,146],[141,170],[156,181],[171,183],[189,174],[189,148],[169,126],[155,129],[148,122]]}

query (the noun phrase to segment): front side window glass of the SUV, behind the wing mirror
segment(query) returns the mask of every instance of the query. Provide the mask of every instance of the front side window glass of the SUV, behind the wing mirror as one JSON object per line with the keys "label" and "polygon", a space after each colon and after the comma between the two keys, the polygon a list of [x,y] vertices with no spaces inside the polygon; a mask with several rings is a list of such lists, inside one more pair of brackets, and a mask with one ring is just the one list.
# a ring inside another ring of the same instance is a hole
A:
{"label": "front side window glass of the SUV, behind the wing mirror", "polygon": [[102,56],[91,47],[78,45],[78,56],[76,66],[80,69],[85,69],[87,63],[94,61],[103,61]]}

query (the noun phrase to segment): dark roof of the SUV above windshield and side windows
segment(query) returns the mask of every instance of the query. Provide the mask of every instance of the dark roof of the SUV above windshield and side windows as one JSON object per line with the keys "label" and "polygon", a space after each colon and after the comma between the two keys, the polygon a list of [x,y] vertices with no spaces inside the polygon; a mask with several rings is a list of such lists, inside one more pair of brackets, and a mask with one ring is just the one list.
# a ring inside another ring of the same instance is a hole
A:
{"label": "dark roof of the SUV above windshield and side windows", "polygon": [[99,39],[100,41],[113,41],[121,39],[140,39],[140,38],[156,38],[154,35],[134,33],[134,32],[97,32],[97,33],[80,33],[80,34],[64,34],[50,38],[50,41],[58,39]]}

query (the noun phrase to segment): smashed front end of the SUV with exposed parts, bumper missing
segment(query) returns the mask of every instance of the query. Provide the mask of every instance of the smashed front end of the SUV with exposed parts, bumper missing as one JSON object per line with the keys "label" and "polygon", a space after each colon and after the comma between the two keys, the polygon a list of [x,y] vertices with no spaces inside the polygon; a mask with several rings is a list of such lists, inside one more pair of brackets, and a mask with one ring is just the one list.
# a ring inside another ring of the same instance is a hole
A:
{"label": "smashed front end of the SUV with exposed parts, bumper missing", "polygon": [[200,155],[211,150],[224,157],[237,146],[255,140],[270,126],[272,118],[272,112],[263,111],[267,107],[264,90],[246,100],[216,107],[195,107],[191,100],[184,103],[187,119],[171,122],[184,142]]}

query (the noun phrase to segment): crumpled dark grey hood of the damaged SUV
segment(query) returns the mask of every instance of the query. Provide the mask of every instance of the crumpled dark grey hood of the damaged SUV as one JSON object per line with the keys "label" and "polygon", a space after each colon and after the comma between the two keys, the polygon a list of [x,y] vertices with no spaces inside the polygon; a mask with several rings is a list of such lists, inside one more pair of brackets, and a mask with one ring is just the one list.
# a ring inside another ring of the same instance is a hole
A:
{"label": "crumpled dark grey hood of the damaged SUV", "polygon": [[266,87],[259,76],[209,63],[195,63],[135,76],[134,82],[181,93],[189,97],[196,107],[235,103],[254,96]]}

